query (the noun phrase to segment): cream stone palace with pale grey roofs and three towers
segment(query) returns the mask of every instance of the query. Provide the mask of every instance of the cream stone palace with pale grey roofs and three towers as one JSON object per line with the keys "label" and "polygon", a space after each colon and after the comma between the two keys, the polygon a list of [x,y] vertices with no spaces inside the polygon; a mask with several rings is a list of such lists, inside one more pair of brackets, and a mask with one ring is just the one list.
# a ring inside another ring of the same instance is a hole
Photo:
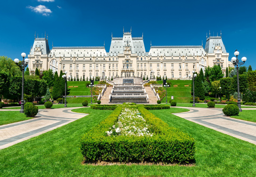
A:
{"label": "cream stone palace with pale grey roofs and three towers", "polygon": [[[207,37],[207,36],[206,36]],[[154,76],[173,79],[188,79],[192,71],[220,65],[225,69],[231,63],[229,53],[222,41],[222,35],[210,36],[206,45],[196,46],[151,46],[148,52],[142,37],[132,37],[132,30],[124,32],[123,37],[111,36],[109,52],[104,46],[78,46],[49,48],[48,36],[34,39],[31,46],[29,69],[34,74],[52,69],[60,73],[67,71],[72,78],[115,78],[118,76]]]}

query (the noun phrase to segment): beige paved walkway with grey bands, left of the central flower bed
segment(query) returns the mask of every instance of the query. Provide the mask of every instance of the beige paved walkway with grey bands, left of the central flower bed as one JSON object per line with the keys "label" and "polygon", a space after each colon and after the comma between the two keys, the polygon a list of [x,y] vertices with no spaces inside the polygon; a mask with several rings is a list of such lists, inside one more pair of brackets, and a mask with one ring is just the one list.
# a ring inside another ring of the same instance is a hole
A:
{"label": "beige paved walkway with grey bands, left of the central flower bed", "polygon": [[[81,107],[78,107],[81,108]],[[0,149],[7,148],[32,137],[61,127],[88,114],[74,113],[71,109],[58,108],[38,110],[36,118],[0,126]],[[7,111],[5,109],[3,111]],[[20,111],[9,109],[11,111]]]}

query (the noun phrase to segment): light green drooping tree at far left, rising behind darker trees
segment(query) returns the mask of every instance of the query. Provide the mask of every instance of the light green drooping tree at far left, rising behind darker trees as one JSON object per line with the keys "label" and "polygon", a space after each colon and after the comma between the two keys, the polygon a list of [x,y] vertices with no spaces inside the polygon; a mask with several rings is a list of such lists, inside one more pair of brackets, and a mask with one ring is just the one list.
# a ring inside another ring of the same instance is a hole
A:
{"label": "light green drooping tree at far left, rising behind darker trees", "polygon": [[0,56],[0,71],[4,71],[10,76],[21,75],[21,70],[17,64],[5,56]]}

